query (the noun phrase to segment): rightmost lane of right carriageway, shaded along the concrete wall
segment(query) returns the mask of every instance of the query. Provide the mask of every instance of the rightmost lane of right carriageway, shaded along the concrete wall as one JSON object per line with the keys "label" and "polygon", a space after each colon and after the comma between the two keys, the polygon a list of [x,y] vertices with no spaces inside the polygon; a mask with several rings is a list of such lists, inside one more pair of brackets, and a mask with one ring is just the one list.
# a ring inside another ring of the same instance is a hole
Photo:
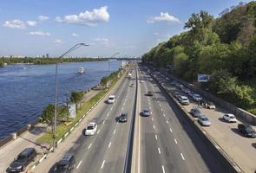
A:
{"label": "rightmost lane of right carriageway, shaded along the concrete wall", "polygon": [[151,86],[154,87],[155,93],[159,96],[158,100],[161,104],[161,109],[166,115],[162,116],[165,118],[162,120],[169,125],[169,131],[174,135],[174,139],[176,139],[174,143],[178,145],[186,160],[188,170],[191,172],[227,171],[225,165],[209,154],[207,145],[201,141],[197,131],[194,131],[194,128],[188,124],[187,119],[174,103],[168,99],[166,93],[161,91],[157,85],[153,84]]}

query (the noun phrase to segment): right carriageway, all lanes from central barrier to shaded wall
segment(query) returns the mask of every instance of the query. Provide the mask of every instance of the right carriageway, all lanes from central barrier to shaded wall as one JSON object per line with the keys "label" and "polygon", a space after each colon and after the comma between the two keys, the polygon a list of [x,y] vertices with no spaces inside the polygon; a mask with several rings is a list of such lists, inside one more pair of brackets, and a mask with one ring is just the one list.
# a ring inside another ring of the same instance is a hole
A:
{"label": "right carriageway, all lanes from central barrier to shaded wall", "polygon": [[[187,119],[166,94],[139,73],[140,111],[148,108],[150,117],[139,116],[139,168],[136,172],[227,172],[225,165],[208,151]],[[147,91],[154,93],[146,96]]]}

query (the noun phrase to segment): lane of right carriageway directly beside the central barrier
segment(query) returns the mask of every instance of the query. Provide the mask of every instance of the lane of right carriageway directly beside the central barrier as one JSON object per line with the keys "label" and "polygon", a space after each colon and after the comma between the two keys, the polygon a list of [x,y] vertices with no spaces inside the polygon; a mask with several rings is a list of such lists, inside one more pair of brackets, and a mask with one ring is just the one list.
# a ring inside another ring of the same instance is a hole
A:
{"label": "lane of right carriageway directly beside the central barrier", "polygon": [[[140,74],[140,78],[142,74]],[[147,81],[146,81],[147,82]],[[149,105],[149,97],[145,95],[147,93],[146,82],[141,83],[141,111],[143,109],[148,109],[148,111],[152,112],[151,105]],[[155,133],[155,125],[152,121],[152,115],[150,117],[142,117],[139,116],[140,119],[140,132],[141,132],[141,140],[139,144],[141,144],[141,172],[161,172],[161,159],[158,153],[158,144],[156,133]],[[140,153],[139,153],[140,154]]]}

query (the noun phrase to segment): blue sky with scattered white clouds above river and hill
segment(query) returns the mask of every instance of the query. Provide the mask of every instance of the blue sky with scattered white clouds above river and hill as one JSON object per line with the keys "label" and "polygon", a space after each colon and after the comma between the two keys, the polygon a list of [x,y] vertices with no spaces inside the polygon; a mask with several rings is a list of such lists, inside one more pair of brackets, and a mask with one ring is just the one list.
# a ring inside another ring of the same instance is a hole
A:
{"label": "blue sky with scattered white clouds above river and hill", "polygon": [[[138,56],[184,31],[193,13],[218,17],[241,0],[1,0],[0,55]],[[250,1],[243,1],[250,2]]]}

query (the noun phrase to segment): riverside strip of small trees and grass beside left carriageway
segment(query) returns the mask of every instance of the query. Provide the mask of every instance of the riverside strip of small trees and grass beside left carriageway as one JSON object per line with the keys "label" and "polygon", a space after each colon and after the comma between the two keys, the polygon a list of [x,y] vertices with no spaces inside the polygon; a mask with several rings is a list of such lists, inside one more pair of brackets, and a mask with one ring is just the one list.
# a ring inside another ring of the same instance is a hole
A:
{"label": "riverside strip of small trees and grass beside left carriageway", "polygon": [[[83,91],[74,91],[71,93],[70,101],[75,104],[80,104],[79,108],[76,111],[76,117],[75,119],[68,119],[69,112],[67,106],[59,106],[57,108],[57,125],[56,125],[56,141],[58,141],[60,138],[62,138],[66,132],[68,132],[77,122],[79,119],[81,119],[82,115],[85,112],[88,112],[89,109],[95,105],[95,103],[102,98],[106,93],[108,93],[108,90],[112,88],[115,83],[118,80],[118,74],[120,74],[120,70],[117,72],[113,72],[107,77],[104,77],[104,79],[111,80],[111,84],[109,87],[106,87],[104,83],[101,83],[102,86],[105,86],[102,90],[100,90],[98,93],[95,94],[94,97],[89,99],[88,101],[82,103],[82,98],[84,97]],[[105,80],[103,80],[105,82]],[[106,83],[108,80],[106,81]],[[64,107],[64,108],[63,108]],[[49,125],[53,124],[53,117],[54,117],[54,109],[55,105],[49,104],[46,106],[42,113],[42,119],[44,123],[47,123]],[[62,109],[65,109],[63,111]],[[68,113],[68,115],[66,114]],[[49,144],[49,146],[52,146],[52,131],[46,132],[43,137],[38,138],[36,141],[38,144]]]}

